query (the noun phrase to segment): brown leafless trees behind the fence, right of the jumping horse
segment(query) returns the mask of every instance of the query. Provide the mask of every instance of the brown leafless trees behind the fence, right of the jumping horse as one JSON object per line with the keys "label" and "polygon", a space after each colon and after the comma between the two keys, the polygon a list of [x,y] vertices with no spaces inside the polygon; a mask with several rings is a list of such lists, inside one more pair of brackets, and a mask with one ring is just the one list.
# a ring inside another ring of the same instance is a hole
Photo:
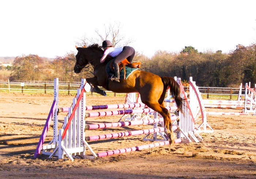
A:
{"label": "brown leafless trees behind the fence, right of the jumping horse", "polygon": [[[142,58],[143,59],[143,58]],[[151,58],[143,59],[145,71],[160,76],[177,76],[193,80],[200,86],[237,87],[240,83],[256,83],[256,43],[237,45],[229,54],[197,52],[185,47],[180,53],[158,51]]]}

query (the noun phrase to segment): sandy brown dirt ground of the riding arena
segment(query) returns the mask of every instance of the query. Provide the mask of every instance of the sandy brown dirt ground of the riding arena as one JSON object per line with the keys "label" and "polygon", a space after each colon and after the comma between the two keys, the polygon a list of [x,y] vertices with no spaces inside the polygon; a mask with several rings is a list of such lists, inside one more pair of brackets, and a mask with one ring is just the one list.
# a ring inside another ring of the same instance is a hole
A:
{"label": "sandy brown dirt ground of the riding arena", "polygon": [[[69,107],[72,98],[60,96],[59,106]],[[49,159],[46,155],[34,159],[52,101],[53,96],[48,94],[0,93],[0,178],[256,178],[256,116],[253,115],[208,115],[214,133],[201,133],[200,143],[166,145],[93,160],[76,158],[73,162]],[[123,103],[121,97],[86,97],[86,105]],[[64,116],[59,114],[60,126]],[[90,122],[117,122],[120,117],[93,118]],[[125,128],[134,129],[138,128]],[[45,144],[51,136],[52,129]],[[142,138],[130,136],[90,145],[98,152],[150,142]]]}

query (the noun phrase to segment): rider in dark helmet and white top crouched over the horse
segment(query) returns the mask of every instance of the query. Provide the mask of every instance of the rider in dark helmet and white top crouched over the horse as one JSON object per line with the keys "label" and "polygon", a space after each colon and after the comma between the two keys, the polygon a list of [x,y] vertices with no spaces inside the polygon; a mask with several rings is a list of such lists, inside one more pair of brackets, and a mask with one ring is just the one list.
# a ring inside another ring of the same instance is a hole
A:
{"label": "rider in dark helmet and white top crouched over the horse", "polygon": [[102,42],[102,48],[104,49],[104,54],[101,57],[101,63],[105,61],[105,58],[109,55],[113,57],[113,67],[115,76],[112,77],[111,80],[120,81],[120,74],[119,74],[119,66],[118,64],[123,61],[125,58],[131,63],[133,57],[135,55],[135,50],[133,47],[130,46],[123,46],[123,47],[113,47],[112,43],[108,40]]}

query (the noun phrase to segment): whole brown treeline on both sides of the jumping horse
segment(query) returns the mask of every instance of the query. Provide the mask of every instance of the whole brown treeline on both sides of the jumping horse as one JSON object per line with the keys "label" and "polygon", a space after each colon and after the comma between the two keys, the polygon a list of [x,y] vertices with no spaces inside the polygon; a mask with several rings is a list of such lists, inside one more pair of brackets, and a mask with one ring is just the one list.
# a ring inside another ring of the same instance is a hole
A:
{"label": "whole brown treeline on both sides of the jumping horse", "polygon": [[[182,80],[193,77],[197,85],[210,87],[237,87],[249,81],[256,83],[256,43],[250,46],[237,45],[230,53],[198,52],[192,46],[186,46],[180,53],[158,51],[148,58],[136,54],[134,61],[141,61],[144,71],[159,76],[177,76]],[[47,61],[37,55],[16,57],[10,80],[53,80],[80,81],[93,76],[91,68],[82,73],[74,73],[75,54],[56,57]]]}

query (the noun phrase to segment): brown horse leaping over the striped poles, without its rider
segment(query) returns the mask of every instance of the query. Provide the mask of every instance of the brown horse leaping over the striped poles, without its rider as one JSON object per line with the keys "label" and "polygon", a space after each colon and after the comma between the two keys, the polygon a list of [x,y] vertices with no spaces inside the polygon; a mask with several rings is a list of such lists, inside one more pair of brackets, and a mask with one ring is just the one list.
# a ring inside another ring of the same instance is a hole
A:
{"label": "brown horse leaping over the striped poles, without its rider", "polygon": [[166,90],[170,88],[180,111],[182,110],[182,98],[180,97],[180,86],[172,77],[160,77],[153,73],[136,70],[126,80],[120,79],[120,83],[111,80],[108,83],[108,74],[105,69],[109,60],[106,59],[102,64],[99,62],[103,55],[101,46],[94,44],[89,47],[76,47],[76,49],[78,53],[76,54],[74,66],[75,73],[80,73],[90,63],[94,68],[94,77],[86,79],[89,84],[94,87],[101,86],[116,93],[138,92],[144,104],[162,115],[165,133],[170,139],[170,144],[174,143],[175,136],[172,130],[170,114],[164,106]]}

